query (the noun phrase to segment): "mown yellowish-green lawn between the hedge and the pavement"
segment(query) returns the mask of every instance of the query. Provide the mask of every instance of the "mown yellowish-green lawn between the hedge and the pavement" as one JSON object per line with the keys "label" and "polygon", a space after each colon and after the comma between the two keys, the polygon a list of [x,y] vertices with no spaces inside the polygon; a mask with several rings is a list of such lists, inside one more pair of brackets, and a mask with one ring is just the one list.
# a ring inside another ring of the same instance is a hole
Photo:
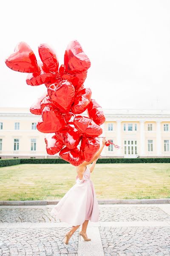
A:
{"label": "mown yellowish-green lawn between the hedge and the pavement", "polygon": [[[0,200],[62,198],[76,182],[71,164],[0,168]],[[96,164],[91,173],[98,199],[170,198],[170,163]]]}

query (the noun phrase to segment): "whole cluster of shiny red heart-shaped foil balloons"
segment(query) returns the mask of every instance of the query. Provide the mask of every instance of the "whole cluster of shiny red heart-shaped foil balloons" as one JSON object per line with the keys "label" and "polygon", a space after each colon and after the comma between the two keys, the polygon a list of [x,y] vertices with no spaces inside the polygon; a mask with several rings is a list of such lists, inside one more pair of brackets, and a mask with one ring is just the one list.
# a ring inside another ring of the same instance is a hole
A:
{"label": "whole cluster of shiny red heart-shaped foil balloons", "polygon": [[[47,91],[30,108],[31,113],[41,115],[37,129],[46,133],[48,154],[59,152],[62,159],[78,166],[90,161],[99,150],[100,125],[105,122],[102,107],[91,99],[91,89],[83,85],[91,62],[78,41],[68,44],[60,67],[56,53],[47,44],[41,44],[38,52],[41,61],[28,44],[20,42],[6,65],[28,73],[28,85],[45,84]],[[88,117],[80,115],[84,111]]]}

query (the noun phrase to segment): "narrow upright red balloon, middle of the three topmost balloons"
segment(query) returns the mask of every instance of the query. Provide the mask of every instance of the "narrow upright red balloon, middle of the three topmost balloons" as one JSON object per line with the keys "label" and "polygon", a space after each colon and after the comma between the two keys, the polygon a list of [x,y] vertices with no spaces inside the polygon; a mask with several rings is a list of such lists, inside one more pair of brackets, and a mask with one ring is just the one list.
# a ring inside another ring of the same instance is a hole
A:
{"label": "narrow upright red balloon, middle of the three topmost balloons", "polygon": [[48,44],[40,44],[38,47],[38,52],[44,66],[49,71],[57,73],[59,63],[54,50]]}

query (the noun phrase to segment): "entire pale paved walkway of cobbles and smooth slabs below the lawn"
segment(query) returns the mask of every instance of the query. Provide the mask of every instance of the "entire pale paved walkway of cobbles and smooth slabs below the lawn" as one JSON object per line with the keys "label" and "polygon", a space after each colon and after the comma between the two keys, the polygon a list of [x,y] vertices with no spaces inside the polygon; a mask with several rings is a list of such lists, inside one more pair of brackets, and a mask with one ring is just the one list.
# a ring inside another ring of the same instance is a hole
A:
{"label": "entire pale paved walkway of cobbles and smooth slabs below the lawn", "polygon": [[54,205],[0,206],[0,256],[170,255],[170,204],[99,204],[89,221],[91,241],[61,240],[68,224],[50,215]]}

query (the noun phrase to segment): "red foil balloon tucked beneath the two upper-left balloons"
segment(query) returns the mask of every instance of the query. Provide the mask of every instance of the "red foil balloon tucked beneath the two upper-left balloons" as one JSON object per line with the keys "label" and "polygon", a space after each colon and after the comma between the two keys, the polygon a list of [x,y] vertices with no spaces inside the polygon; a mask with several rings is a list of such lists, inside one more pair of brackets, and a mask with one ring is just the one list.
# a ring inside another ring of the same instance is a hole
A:
{"label": "red foil balloon tucked beneath the two upper-left balloons", "polygon": [[27,76],[26,83],[28,85],[36,86],[40,84],[44,84],[50,81],[54,77],[54,74],[49,72],[48,69],[43,66],[42,63],[39,64],[39,71],[30,73]]}

